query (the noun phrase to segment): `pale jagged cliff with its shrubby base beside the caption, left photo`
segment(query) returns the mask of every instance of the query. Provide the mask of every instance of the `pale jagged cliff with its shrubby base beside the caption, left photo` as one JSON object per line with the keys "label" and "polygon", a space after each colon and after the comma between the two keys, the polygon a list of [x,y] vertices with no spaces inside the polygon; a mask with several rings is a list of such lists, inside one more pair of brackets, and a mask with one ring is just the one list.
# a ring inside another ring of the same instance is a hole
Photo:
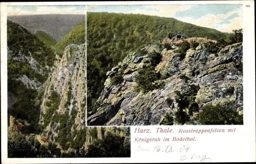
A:
{"label": "pale jagged cliff with its shrubby base beside the caption, left photo", "polygon": [[70,44],[61,58],[56,56],[54,69],[43,85],[42,135],[58,144],[63,152],[86,151],[109,133],[129,140],[129,132],[124,132],[127,128],[86,127],[85,46]]}

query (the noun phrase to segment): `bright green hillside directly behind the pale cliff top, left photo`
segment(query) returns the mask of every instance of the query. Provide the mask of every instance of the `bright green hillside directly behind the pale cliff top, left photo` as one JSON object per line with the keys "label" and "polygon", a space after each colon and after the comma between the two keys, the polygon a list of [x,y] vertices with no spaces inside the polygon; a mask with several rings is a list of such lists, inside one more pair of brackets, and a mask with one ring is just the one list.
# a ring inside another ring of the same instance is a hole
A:
{"label": "bright green hillside directly behind the pale cliff top, left photo", "polygon": [[85,21],[74,26],[66,35],[55,44],[56,50],[62,52],[68,44],[85,43]]}

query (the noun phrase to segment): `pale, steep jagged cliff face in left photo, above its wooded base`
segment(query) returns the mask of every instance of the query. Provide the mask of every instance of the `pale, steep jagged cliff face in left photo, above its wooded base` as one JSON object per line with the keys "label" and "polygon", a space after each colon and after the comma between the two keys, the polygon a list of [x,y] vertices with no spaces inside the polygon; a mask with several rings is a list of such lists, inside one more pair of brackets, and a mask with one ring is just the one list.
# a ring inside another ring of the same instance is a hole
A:
{"label": "pale, steep jagged cliff face in left photo, above its wooded base", "polygon": [[[86,57],[85,44],[68,45],[62,58],[56,56],[52,73],[43,86],[40,123],[47,126],[46,133],[50,139],[58,137],[60,118],[66,113],[67,119],[72,120],[68,131],[80,130],[85,126],[86,103]],[[51,95],[56,93],[59,98],[53,107]],[[52,110],[49,113],[49,110]],[[47,115],[47,116],[46,116]],[[49,116],[50,115],[50,116]],[[45,119],[47,117],[47,119]],[[45,120],[49,123],[45,123]],[[64,121],[68,121],[64,120]],[[51,135],[50,135],[51,134]]]}

